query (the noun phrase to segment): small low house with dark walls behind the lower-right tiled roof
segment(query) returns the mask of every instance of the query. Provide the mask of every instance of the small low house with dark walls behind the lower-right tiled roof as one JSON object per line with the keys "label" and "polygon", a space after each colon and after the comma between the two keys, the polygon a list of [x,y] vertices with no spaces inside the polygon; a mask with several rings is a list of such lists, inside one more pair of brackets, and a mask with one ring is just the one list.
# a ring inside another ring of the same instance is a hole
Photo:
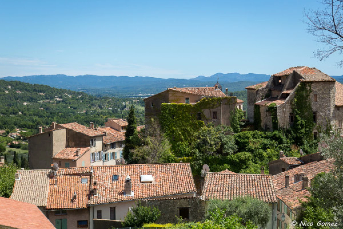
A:
{"label": "small low house with dark walls behind the lower-right tiled roof", "polygon": [[321,160],[323,160],[323,157],[321,156],[320,152],[307,154],[297,158],[286,157],[283,151],[281,150],[279,153],[279,159],[268,163],[269,174],[275,175],[277,173],[282,173],[284,171],[298,167],[299,165]]}

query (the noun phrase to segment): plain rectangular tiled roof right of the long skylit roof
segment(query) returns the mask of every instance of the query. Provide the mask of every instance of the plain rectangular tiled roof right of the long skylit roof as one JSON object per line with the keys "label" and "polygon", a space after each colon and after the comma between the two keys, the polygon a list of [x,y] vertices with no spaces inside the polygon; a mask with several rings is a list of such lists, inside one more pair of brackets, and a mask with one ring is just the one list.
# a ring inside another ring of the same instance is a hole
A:
{"label": "plain rectangular tiled roof right of the long skylit roof", "polygon": [[251,196],[268,203],[276,203],[271,175],[206,173],[203,199],[229,199]]}

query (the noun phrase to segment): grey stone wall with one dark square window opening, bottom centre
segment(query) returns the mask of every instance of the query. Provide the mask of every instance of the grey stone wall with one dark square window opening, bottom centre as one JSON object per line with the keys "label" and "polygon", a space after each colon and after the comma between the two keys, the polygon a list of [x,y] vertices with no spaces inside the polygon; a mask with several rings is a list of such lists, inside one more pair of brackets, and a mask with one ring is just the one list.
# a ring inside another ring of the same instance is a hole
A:
{"label": "grey stone wall with one dark square window opening, bottom centre", "polygon": [[187,221],[201,221],[204,219],[206,202],[199,197],[170,198],[170,199],[148,199],[142,201],[142,205],[157,207],[161,216],[158,224],[177,223],[180,208],[189,208],[189,219]]}

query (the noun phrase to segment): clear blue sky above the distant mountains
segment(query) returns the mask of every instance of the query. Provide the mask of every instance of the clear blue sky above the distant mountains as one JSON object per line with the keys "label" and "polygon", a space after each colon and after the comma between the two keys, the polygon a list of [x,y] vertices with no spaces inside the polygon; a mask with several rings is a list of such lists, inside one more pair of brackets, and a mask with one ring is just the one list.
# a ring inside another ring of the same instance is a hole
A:
{"label": "clear blue sky above the distant mountains", "polygon": [[273,74],[319,61],[306,31],[315,0],[1,1],[0,77],[113,75],[194,78]]}

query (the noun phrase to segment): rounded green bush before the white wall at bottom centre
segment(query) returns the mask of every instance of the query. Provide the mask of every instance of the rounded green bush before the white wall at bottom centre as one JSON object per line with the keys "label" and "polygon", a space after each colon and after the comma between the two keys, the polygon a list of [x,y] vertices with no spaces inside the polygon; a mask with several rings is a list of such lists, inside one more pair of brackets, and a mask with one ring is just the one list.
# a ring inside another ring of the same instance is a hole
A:
{"label": "rounded green bush before the white wall at bottom centre", "polygon": [[161,216],[161,211],[154,207],[144,207],[140,202],[136,206],[132,206],[131,211],[122,222],[123,227],[142,227],[143,224],[154,223]]}

